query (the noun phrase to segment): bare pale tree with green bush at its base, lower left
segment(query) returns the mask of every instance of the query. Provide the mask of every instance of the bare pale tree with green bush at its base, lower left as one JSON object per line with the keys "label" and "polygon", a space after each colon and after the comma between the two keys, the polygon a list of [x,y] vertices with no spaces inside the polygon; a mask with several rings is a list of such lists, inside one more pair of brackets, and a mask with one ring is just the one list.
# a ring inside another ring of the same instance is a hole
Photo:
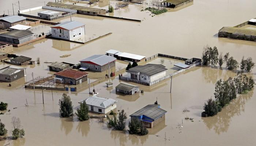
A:
{"label": "bare pale tree with green bush at its base, lower left", "polygon": [[17,117],[12,117],[12,127],[14,130],[12,130],[12,138],[18,139],[22,138],[25,135],[25,130],[20,129],[20,119]]}

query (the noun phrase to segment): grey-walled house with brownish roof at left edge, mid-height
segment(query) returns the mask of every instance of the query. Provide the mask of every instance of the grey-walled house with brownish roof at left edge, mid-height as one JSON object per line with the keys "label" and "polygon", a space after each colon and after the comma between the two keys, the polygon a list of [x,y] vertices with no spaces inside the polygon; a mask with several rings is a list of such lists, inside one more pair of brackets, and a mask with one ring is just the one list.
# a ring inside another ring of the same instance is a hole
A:
{"label": "grey-walled house with brownish roof at left edge, mid-height", "polygon": [[0,69],[0,81],[4,82],[12,82],[18,80],[25,76],[24,74],[25,68],[20,68],[17,66],[7,66],[5,68]]}

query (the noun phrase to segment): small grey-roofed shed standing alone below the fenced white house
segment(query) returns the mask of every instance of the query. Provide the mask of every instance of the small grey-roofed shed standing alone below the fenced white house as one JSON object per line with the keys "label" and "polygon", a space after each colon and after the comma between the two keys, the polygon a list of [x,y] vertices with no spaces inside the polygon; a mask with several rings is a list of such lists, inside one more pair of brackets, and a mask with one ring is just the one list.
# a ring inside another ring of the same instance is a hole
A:
{"label": "small grey-roofed shed standing alone below the fenced white house", "polygon": [[128,83],[120,83],[116,86],[116,92],[124,93],[127,95],[133,95],[140,91],[139,86],[135,86]]}

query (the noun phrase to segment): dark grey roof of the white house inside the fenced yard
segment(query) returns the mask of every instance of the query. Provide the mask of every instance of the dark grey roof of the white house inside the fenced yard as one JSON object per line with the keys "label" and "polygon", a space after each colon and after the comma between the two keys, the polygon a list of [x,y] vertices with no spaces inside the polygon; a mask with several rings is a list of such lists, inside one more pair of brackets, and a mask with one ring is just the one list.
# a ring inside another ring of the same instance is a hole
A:
{"label": "dark grey roof of the white house inside the fenced yard", "polygon": [[154,74],[161,73],[163,71],[167,70],[165,66],[161,64],[146,64],[143,66],[135,66],[133,68],[130,68],[126,72],[128,73],[142,73],[147,76],[153,76]]}

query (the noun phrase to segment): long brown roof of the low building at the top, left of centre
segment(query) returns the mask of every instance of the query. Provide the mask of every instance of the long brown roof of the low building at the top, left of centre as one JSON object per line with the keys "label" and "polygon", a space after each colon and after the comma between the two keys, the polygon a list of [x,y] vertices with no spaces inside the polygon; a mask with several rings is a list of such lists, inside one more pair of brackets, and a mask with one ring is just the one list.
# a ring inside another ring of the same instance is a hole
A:
{"label": "long brown roof of the low building at the top, left of centre", "polygon": [[79,6],[79,5],[62,4],[62,3],[54,3],[54,2],[48,2],[46,5],[52,6],[52,7],[76,9],[79,11],[88,11],[88,12],[95,12],[95,13],[98,13],[99,11],[102,10],[102,9],[98,9],[98,8],[83,7],[83,6]]}

